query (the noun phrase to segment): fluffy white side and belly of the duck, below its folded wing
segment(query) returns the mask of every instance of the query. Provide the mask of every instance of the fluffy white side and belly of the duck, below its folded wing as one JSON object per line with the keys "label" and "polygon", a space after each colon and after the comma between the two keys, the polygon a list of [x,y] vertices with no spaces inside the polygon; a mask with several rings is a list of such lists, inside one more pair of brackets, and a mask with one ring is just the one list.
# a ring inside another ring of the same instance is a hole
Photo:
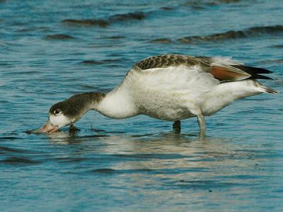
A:
{"label": "fluffy white side and belly of the duck, below its folded wing", "polygon": [[125,83],[140,114],[176,121],[194,117],[192,110],[200,107],[203,93],[219,82],[198,69],[173,67],[129,73]]}

